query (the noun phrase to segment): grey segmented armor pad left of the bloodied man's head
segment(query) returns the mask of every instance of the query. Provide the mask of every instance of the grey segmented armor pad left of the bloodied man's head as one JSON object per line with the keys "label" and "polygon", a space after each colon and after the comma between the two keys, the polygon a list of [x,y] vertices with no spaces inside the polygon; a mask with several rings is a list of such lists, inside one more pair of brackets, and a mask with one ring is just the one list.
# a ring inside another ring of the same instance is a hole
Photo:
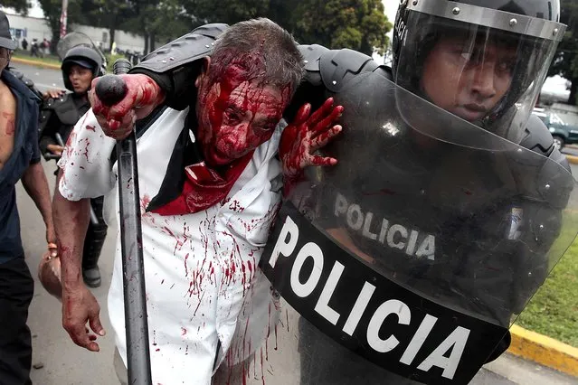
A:
{"label": "grey segmented armor pad left of the bloodied man's head", "polygon": [[214,41],[228,27],[229,25],[223,23],[202,25],[194,29],[193,32],[147,54],[133,69],[140,68],[162,73],[188,62],[202,59],[213,51]]}

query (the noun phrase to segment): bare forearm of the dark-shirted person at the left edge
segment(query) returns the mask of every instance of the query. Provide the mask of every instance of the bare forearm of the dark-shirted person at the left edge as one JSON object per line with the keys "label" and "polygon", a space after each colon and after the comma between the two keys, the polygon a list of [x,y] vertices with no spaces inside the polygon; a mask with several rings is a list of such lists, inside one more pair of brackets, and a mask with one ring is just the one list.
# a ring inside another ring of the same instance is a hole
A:
{"label": "bare forearm of the dark-shirted person at the left edge", "polygon": [[54,234],[54,224],[52,221],[52,206],[50,202],[50,189],[48,188],[48,180],[44,174],[43,165],[40,162],[30,164],[22,176],[22,184],[24,190],[32,198],[34,204],[43,216],[44,224],[46,225],[46,242],[51,249],[52,257],[56,256],[56,249],[50,247],[51,244],[56,243],[56,235]]}

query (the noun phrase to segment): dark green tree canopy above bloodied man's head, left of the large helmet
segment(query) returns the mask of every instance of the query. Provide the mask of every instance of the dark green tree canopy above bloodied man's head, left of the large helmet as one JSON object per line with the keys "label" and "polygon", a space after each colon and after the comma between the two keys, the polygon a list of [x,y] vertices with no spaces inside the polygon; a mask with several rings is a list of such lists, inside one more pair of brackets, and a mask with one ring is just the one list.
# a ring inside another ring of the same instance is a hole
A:
{"label": "dark green tree canopy above bloodied man's head, left of the large helmet", "polygon": [[381,0],[181,0],[188,14],[206,22],[237,23],[267,16],[300,43],[384,53],[392,24]]}

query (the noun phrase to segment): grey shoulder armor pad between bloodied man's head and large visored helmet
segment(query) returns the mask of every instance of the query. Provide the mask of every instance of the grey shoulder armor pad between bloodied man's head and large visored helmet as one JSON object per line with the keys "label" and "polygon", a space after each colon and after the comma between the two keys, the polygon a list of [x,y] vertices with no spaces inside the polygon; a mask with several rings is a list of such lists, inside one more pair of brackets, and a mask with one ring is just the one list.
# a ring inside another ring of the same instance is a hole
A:
{"label": "grey shoulder armor pad between bloodied man's head and large visored helmet", "polygon": [[325,87],[337,92],[347,80],[361,72],[374,71],[379,65],[365,53],[349,49],[327,51],[319,58],[319,72]]}

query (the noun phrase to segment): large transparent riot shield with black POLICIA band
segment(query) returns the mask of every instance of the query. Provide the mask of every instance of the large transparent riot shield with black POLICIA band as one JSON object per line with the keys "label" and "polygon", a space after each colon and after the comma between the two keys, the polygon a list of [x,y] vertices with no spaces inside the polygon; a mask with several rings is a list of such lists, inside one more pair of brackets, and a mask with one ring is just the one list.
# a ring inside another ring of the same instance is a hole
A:
{"label": "large transparent riot shield with black POLICIA band", "polygon": [[380,75],[347,87],[339,164],[261,258],[283,304],[243,382],[466,384],[575,238],[573,176]]}

